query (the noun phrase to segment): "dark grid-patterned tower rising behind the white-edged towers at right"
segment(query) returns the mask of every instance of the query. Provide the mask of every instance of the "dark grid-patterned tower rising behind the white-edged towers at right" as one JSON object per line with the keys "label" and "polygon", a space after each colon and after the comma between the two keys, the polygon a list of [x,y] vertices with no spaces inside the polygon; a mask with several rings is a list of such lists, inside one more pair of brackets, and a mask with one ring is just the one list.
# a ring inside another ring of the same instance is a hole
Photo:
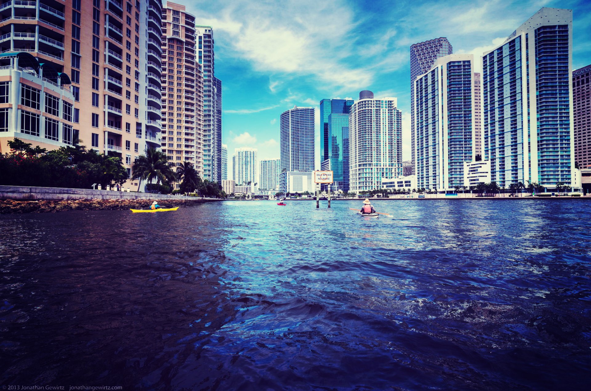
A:
{"label": "dark grid-patterned tower rising behind the white-edged towers at right", "polygon": [[[415,167],[415,118],[414,112],[414,80],[417,76],[427,73],[434,66],[437,58],[453,53],[452,44],[447,38],[440,37],[433,40],[413,44],[410,47],[410,96],[411,96],[411,164]],[[413,172],[414,174],[414,172]]]}

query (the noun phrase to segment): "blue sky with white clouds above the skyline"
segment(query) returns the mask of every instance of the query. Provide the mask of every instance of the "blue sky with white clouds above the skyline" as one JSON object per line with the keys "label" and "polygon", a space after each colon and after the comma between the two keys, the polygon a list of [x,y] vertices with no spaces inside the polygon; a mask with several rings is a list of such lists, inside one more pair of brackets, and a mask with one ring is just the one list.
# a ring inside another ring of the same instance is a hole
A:
{"label": "blue sky with white clouds above the skyline", "polygon": [[278,158],[285,110],[357,100],[364,89],[398,98],[410,159],[410,45],[447,37],[454,53],[476,59],[543,6],[573,10],[573,67],[591,64],[589,0],[177,2],[197,24],[213,26],[229,165],[241,146],[258,148],[259,159]]}

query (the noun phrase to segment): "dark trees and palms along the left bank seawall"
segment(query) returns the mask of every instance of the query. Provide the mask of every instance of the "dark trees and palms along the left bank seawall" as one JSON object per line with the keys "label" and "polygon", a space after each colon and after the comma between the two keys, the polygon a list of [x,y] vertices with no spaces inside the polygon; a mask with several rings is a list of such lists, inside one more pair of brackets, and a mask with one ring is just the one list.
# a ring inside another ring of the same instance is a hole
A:
{"label": "dark trees and palms along the left bank seawall", "polygon": [[[100,184],[106,188],[122,185],[129,179],[121,157],[88,150],[79,144],[79,140],[72,146],[61,146],[52,151],[33,147],[18,138],[8,141],[8,147],[9,152],[0,154],[0,185],[92,188]],[[131,174],[132,180],[138,180],[138,191],[143,181],[150,193],[226,197],[221,185],[203,180],[193,164],[184,162],[176,167],[164,152],[154,148],[134,161]],[[179,182],[178,190],[173,190],[173,184]]]}

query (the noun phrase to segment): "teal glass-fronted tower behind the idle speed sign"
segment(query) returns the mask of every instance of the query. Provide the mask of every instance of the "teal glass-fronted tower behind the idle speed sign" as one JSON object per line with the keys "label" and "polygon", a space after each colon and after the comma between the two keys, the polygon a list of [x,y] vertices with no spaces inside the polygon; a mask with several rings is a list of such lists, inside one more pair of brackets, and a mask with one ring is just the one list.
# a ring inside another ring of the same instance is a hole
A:
{"label": "teal glass-fronted tower behind the idle speed sign", "polygon": [[333,171],[333,191],[349,191],[349,113],[352,105],[353,100],[320,101],[320,168]]}

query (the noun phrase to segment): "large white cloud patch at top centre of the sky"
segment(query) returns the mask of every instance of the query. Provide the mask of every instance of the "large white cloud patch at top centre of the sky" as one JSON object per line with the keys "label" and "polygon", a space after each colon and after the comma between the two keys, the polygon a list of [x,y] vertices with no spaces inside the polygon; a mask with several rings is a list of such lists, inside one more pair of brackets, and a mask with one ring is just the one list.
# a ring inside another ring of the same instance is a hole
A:
{"label": "large white cloud patch at top centre of the sky", "polygon": [[[255,71],[313,77],[325,86],[358,89],[371,84],[375,71],[356,69],[348,61],[357,55],[352,38],[359,21],[342,2],[221,4],[226,4],[216,10],[221,17],[201,17],[200,23],[213,25],[226,36],[224,44],[230,52],[226,56],[249,61]],[[199,11],[194,5],[189,8]],[[277,89],[275,83],[275,79],[269,83],[271,92]]]}

